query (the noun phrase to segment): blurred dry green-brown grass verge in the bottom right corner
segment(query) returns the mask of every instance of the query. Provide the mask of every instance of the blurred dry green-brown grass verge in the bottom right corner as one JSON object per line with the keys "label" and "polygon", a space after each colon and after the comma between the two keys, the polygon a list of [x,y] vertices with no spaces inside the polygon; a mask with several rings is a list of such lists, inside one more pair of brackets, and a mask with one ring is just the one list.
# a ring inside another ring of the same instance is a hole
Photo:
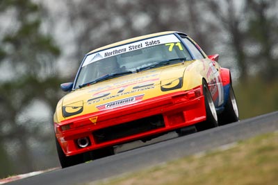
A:
{"label": "blurred dry green-brown grass verge in the bottom right corner", "polygon": [[[277,184],[278,132],[92,184]],[[89,185],[89,184],[86,184]]]}

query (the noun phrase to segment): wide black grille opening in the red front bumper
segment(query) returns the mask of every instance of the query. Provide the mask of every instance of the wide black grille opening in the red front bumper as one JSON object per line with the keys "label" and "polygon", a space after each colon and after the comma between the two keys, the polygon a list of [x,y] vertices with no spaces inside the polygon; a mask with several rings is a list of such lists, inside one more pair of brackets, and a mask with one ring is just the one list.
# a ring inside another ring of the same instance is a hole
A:
{"label": "wide black grille opening in the red front bumper", "polygon": [[136,121],[128,123],[122,123],[113,127],[107,127],[101,130],[93,132],[96,143],[103,143],[106,141],[113,141],[125,136],[131,136],[150,130],[156,130],[160,127],[164,127],[164,120],[162,115],[150,116],[147,118],[141,118]]}

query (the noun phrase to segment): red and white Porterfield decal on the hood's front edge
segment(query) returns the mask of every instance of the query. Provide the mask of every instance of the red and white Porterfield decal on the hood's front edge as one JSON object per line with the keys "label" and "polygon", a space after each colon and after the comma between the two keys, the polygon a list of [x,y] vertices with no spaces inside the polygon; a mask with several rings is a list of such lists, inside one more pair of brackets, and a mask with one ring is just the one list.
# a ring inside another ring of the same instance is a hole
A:
{"label": "red and white Porterfield decal on the hood's front edge", "polygon": [[102,105],[97,105],[96,107],[99,110],[113,109],[115,107],[122,107],[124,105],[130,105],[130,104],[133,104],[133,103],[137,103],[140,100],[142,100],[143,97],[144,97],[144,94],[140,94],[138,96],[132,96],[132,97],[129,97],[129,98],[116,100],[116,101],[105,103],[105,104],[102,104]]}

